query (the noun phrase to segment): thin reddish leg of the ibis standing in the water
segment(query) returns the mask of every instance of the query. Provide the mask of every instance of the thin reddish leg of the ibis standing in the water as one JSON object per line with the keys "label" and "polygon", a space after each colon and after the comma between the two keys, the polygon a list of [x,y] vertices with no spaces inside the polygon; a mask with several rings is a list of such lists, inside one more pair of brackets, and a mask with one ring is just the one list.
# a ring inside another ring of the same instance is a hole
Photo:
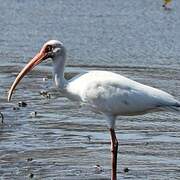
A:
{"label": "thin reddish leg of the ibis standing in the water", "polygon": [[112,152],[111,180],[117,180],[116,169],[117,169],[118,140],[116,138],[116,133],[113,128],[110,128],[110,134],[111,134],[111,152]]}

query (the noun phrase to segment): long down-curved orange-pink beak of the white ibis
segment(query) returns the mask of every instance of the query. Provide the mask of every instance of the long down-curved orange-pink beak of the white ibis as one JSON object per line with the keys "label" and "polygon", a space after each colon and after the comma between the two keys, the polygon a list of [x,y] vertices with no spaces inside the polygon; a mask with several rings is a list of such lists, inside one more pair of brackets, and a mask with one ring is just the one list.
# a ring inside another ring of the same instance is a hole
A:
{"label": "long down-curved orange-pink beak of the white ibis", "polygon": [[8,93],[8,101],[11,100],[12,93],[20,80],[28,73],[30,72],[35,66],[37,66],[39,63],[41,63],[43,60],[48,58],[48,54],[44,51],[40,51],[29,63],[21,70],[21,72],[16,77],[15,81],[13,82],[9,93]]}

